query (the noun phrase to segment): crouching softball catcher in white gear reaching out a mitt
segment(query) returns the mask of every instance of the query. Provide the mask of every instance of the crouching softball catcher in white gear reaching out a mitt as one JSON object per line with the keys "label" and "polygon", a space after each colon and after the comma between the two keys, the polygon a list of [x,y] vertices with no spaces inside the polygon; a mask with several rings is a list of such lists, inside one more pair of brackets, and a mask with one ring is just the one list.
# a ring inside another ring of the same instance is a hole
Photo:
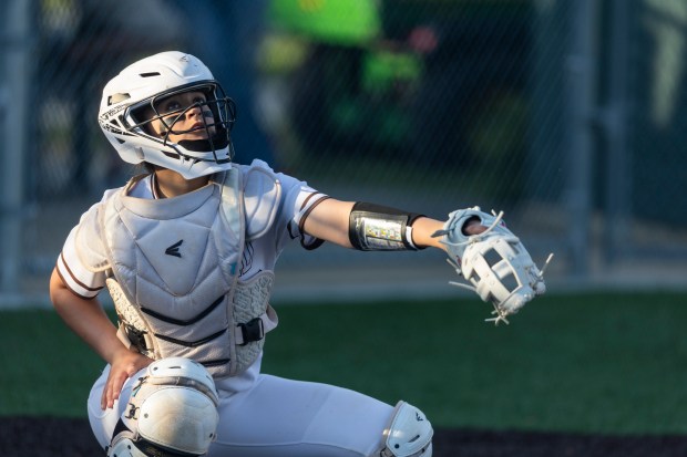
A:
{"label": "crouching softball catcher in white gear reaching out a mitt", "polygon": [[[278,325],[269,297],[279,253],[293,240],[443,249],[494,303],[496,322],[544,292],[542,273],[500,216],[468,209],[444,222],[337,200],[259,160],[233,163],[235,120],[209,70],[182,52],[137,61],[103,90],[105,137],[146,172],[81,217],[50,282],[57,311],[106,362],[88,402],[103,454],[431,457],[432,426],[409,403],[260,372]],[[502,260],[485,262],[490,250]]]}

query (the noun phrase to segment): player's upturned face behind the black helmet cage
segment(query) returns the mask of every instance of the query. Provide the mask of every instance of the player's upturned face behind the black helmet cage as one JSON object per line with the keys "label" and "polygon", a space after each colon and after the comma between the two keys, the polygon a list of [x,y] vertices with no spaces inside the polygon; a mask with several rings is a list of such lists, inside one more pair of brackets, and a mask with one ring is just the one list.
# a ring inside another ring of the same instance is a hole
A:
{"label": "player's upturned face behind the black helmet cage", "polygon": [[183,139],[207,139],[215,134],[215,121],[205,102],[205,94],[197,91],[162,98],[155,103],[155,110],[162,115],[162,120],[153,121],[151,126],[161,137],[170,131],[168,138],[174,143]]}

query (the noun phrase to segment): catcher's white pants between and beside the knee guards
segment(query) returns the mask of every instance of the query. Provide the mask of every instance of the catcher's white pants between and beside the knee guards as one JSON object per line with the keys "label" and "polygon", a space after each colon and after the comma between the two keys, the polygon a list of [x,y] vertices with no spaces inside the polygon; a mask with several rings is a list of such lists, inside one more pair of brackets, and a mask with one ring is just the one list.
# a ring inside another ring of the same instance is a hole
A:
{"label": "catcher's white pants between and beside the knee guards", "polygon": [[[382,445],[393,407],[327,384],[290,381],[259,373],[260,360],[240,376],[217,382],[219,425],[209,457],[368,457]],[[130,378],[113,409],[100,398],[110,367],[89,397],[89,419],[103,448],[125,411]]]}

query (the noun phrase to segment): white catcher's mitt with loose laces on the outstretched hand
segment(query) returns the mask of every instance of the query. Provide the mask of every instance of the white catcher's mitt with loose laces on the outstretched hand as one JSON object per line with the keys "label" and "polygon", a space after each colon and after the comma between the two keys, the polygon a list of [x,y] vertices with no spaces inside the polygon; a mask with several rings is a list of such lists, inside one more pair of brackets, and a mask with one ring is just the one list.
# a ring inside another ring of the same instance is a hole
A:
{"label": "white catcher's mitt with loose laces on the outstretched hand", "polygon": [[[479,235],[463,233],[463,226],[476,218],[486,230]],[[449,215],[443,229],[433,237],[443,236],[449,263],[465,282],[453,282],[473,292],[494,305],[495,318],[486,321],[509,323],[507,316],[515,314],[536,295],[546,291],[544,270],[553,258],[548,256],[540,271],[520,239],[505,227],[503,211],[498,215],[482,212],[480,207],[459,209]]]}

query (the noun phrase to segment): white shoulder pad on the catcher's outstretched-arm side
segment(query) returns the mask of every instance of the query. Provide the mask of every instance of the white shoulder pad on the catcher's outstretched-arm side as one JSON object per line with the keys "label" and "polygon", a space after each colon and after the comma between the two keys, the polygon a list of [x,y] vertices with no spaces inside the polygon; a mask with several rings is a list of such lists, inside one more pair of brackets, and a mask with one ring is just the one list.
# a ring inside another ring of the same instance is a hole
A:
{"label": "white shoulder pad on the catcher's outstretched-arm side", "polygon": [[244,178],[246,239],[260,238],[274,224],[281,200],[281,184],[263,160],[253,160]]}

